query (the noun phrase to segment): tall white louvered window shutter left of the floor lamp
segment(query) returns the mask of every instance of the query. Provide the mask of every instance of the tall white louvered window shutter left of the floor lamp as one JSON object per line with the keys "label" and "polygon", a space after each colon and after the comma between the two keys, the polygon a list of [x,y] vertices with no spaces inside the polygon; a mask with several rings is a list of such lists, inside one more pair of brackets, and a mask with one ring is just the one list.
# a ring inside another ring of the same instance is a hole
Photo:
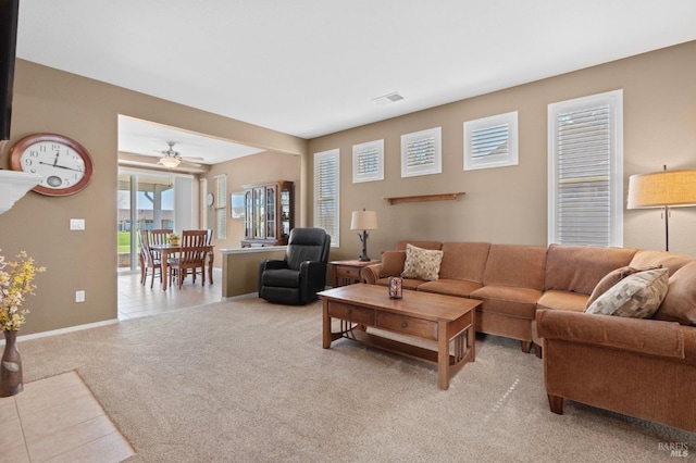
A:
{"label": "tall white louvered window shutter left of the floor lamp", "polygon": [[621,92],[549,105],[549,241],[622,246]]}

